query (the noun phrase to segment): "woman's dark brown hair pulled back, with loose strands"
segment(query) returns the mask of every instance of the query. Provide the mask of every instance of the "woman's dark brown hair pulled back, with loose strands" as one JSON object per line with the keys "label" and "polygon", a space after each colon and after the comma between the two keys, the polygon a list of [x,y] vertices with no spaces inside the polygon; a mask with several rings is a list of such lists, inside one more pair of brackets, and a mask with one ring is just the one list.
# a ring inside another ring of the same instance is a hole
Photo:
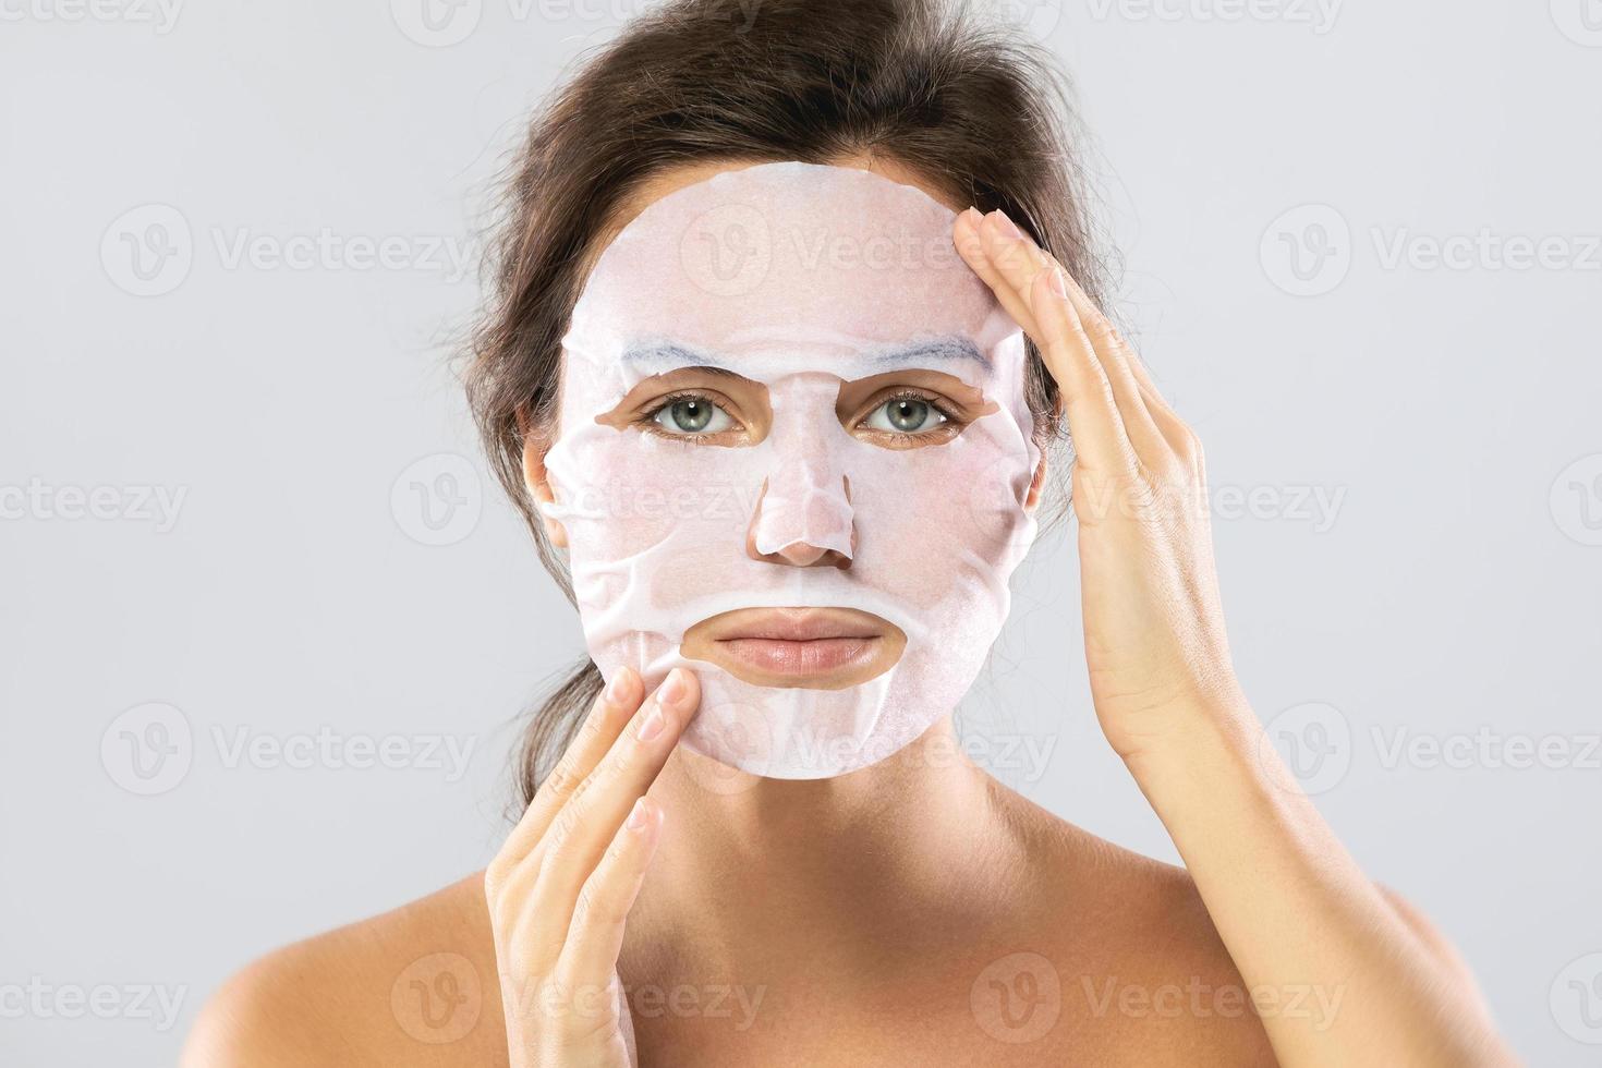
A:
{"label": "woman's dark brown hair pulled back, with loose strands", "polygon": [[[1003,208],[1099,298],[1070,130],[1049,56],[940,0],[670,0],[588,58],[533,117],[516,160],[466,373],[490,464],[567,599],[522,448],[554,426],[561,338],[631,194],[686,163],[892,159],[980,211]],[[1049,434],[1056,386],[1033,346],[1028,383]],[[533,711],[524,804],[599,687],[586,660]]]}

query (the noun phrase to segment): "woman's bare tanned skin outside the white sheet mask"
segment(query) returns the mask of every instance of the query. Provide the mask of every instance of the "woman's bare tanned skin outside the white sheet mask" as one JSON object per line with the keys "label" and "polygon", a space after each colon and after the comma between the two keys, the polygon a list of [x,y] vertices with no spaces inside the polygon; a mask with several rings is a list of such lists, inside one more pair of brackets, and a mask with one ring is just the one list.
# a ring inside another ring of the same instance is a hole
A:
{"label": "woman's bare tanned skin outside the white sheet mask", "polygon": [[[1515,1063],[1450,945],[1259,745],[1195,436],[1004,216],[968,211],[953,239],[1062,386],[1096,716],[1185,866],[1006,789],[950,719],[852,775],[756,780],[674,748],[694,674],[647,695],[625,673],[485,873],[253,964],[184,1065]],[[447,1033],[405,991],[441,953],[455,986],[423,988],[458,991],[465,1034],[420,1041]],[[1016,954],[1056,1012],[1030,1041]]]}

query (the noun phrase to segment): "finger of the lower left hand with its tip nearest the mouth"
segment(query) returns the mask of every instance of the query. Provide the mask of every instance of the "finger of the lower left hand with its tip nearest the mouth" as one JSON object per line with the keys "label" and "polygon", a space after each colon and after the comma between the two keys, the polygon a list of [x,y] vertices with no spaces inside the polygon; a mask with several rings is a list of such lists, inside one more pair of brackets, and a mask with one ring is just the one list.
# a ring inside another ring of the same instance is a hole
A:
{"label": "finger of the lower left hand with its tip nearest the mouth", "polygon": [[[590,781],[562,807],[540,842],[537,863],[525,861],[516,882],[532,876],[524,919],[532,967],[545,974],[561,956],[578,890],[601,861],[617,828],[662,773],[673,746],[700,701],[695,676],[674,668],[596,767]],[[535,871],[537,868],[537,871]]]}

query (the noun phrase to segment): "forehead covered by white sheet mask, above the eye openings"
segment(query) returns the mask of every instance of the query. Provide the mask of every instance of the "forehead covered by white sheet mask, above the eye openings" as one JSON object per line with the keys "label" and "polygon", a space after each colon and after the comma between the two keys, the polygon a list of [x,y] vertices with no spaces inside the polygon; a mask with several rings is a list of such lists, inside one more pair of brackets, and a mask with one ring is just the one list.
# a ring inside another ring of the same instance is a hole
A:
{"label": "forehead covered by white sheet mask, above the eye openings", "polygon": [[953,221],[923,191],[854,168],[714,175],[614,239],[574,311],[570,354],[625,357],[631,378],[687,354],[742,373],[774,359],[984,363],[1016,325],[953,248]]}

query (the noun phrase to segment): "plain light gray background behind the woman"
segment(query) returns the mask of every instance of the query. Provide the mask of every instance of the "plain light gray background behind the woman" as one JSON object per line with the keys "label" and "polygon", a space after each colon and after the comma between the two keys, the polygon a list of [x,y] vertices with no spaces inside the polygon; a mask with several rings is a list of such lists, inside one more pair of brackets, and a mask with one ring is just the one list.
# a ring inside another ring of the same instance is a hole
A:
{"label": "plain light gray background behind the woman", "polygon": [[[6,1065],[170,1063],[247,959],[484,865],[511,719],[580,650],[442,367],[477,282],[439,247],[633,5],[420,3],[0,8]],[[1602,5],[1006,13],[1078,78],[1259,716],[1520,1052],[1597,1063]],[[966,733],[1171,860],[1088,708],[1075,573],[1059,536],[1014,581]]]}

